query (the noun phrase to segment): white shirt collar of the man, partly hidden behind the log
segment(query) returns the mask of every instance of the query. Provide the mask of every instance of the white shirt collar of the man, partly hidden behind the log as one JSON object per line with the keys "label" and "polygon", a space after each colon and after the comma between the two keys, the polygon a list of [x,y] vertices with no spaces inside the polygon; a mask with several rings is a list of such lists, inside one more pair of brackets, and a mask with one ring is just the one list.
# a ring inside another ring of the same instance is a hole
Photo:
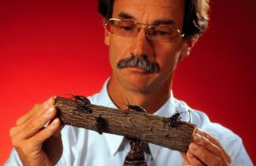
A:
{"label": "white shirt collar of the man, partly hidden behind the log", "polygon": [[[106,80],[104,83],[101,92],[98,94],[98,104],[102,106],[109,106],[113,108],[117,108],[117,106],[114,105],[113,101],[110,99],[108,91],[107,91],[107,84],[109,82],[109,78]],[[161,108],[154,113],[154,115],[158,115],[161,117],[170,117],[172,114],[175,113],[175,108],[176,108],[176,103],[175,99],[173,97],[173,92],[170,92],[170,97],[169,99],[165,102]],[[115,155],[117,153],[119,147],[121,146],[121,143],[123,142],[124,136],[122,135],[113,135],[113,134],[108,134],[108,133],[103,133],[103,135],[106,138],[106,142],[108,143],[110,153],[112,155]],[[158,155],[158,150],[160,149],[161,146],[154,145],[152,143],[149,143],[149,148],[150,148],[150,153],[155,159]]]}

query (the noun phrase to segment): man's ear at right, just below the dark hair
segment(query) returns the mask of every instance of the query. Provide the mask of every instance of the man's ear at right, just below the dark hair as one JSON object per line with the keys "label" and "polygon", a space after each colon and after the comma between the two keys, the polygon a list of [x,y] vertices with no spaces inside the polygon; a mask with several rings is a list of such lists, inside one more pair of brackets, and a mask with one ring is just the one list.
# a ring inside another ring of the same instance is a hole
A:
{"label": "man's ear at right, just below the dark hair", "polygon": [[179,62],[181,60],[184,60],[184,58],[186,58],[187,56],[189,56],[191,50],[193,49],[197,41],[198,41],[198,38],[184,38],[184,41],[181,45]]}

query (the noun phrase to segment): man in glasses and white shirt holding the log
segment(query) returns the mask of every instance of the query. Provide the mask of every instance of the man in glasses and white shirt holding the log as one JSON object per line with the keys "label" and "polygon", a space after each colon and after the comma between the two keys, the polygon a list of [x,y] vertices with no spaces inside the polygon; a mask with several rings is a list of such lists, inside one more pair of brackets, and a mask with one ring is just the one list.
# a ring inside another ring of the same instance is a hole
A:
{"label": "man in glasses and white shirt holding the log", "polygon": [[[189,55],[208,23],[207,0],[99,1],[105,18],[112,74],[91,103],[126,109],[122,103],[144,107],[150,114],[169,117],[191,110],[198,129],[187,153],[148,144],[148,165],[252,165],[242,140],[206,114],[173,97],[177,63]],[[122,165],[130,150],[127,139],[61,126],[54,97],[35,105],[10,130],[13,152],[6,165]],[[182,115],[189,119],[188,114]],[[50,124],[43,128],[47,121]],[[62,130],[61,130],[62,129]]]}

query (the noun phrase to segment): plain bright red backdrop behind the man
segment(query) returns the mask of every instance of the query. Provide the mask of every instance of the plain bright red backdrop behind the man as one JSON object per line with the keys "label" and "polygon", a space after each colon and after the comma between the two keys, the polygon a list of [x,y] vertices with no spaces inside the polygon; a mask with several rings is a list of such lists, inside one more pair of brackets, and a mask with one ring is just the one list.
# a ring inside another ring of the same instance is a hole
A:
{"label": "plain bright red backdrop behind the man", "polygon": [[[90,96],[110,74],[96,1],[0,0],[0,164],[9,128],[35,103]],[[254,0],[211,2],[210,29],[180,63],[174,95],[243,138],[256,162]]]}

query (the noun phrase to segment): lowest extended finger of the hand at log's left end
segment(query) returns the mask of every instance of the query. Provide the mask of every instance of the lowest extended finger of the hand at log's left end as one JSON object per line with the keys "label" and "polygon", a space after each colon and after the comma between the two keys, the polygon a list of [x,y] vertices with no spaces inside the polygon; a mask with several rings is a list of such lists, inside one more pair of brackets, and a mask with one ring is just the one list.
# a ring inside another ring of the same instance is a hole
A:
{"label": "lowest extended finger of the hand at log's left end", "polygon": [[35,143],[35,145],[40,145],[45,142],[46,139],[50,138],[50,136],[54,135],[54,133],[58,131],[60,126],[61,121],[58,119],[58,117],[56,117],[54,121],[52,121],[46,128],[43,128],[43,130],[38,132],[29,140],[32,143]]}

